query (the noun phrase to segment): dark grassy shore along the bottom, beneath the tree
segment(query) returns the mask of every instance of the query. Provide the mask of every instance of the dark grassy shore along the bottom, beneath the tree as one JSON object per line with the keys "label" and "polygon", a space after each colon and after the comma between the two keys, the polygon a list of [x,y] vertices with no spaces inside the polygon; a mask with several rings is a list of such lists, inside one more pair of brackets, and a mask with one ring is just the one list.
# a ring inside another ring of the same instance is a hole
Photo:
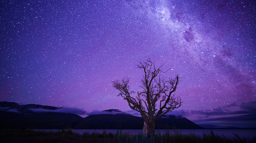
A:
{"label": "dark grassy shore along the bottom, beneath the tree", "polygon": [[226,138],[224,135],[204,133],[202,136],[195,133],[181,134],[180,130],[175,130],[174,134],[170,134],[166,130],[161,135],[158,132],[150,137],[142,134],[123,134],[121,130],[117,130],[115,134],[103,131],[102,134],[97,132],[84,132],[82,135],[73,133],[71,129],[61,130],[58,132],[42,132],[33,130],[2,130],[0,131],[1,143],[29,143],[29,142],[47,142],[47,143],[256,143],[256,137],[252,141],[247,142],[245,138],[234,134],[233,138]]}

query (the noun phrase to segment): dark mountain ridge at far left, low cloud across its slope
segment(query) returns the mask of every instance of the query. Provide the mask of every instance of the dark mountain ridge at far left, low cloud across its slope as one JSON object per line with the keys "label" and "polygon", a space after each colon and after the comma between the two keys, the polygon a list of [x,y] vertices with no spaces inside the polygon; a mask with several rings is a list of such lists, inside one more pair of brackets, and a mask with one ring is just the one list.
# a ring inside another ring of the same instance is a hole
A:
{"label": "dark mountain ridge at far left, low cloud across its slope", "polygon": [[[83,119],[75,114],[57,113],[56,109],[59,108],[0,102],[0,129],[67,129],[73,128]],[[36,112],[40,110],[44,112]]]}

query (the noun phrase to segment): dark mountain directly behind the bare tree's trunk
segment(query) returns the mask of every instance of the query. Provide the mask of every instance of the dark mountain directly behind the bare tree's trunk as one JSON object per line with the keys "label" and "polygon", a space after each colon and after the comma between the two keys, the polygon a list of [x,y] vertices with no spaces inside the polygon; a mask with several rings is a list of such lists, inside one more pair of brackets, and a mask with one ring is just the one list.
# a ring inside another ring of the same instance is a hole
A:
{"label": "dark mountain directly behind the bare tree's trunk", "polygon": [[[133,116],[117,109],[104,110],[101,112],[102,113],[97,115],[85,117],[74,129],[143,129],[144,122],[142,117]],[[156,129],[203,128],[186,118],[166,116],[156,121]]]}

